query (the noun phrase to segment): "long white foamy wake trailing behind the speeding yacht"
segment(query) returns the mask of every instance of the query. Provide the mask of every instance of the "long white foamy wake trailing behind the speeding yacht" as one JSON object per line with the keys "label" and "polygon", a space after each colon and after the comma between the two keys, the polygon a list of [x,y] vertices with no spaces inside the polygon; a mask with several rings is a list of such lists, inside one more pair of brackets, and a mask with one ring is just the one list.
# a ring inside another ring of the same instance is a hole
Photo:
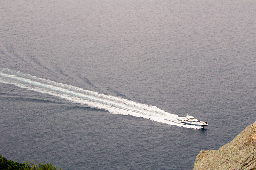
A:
{"label": "long white foamy wake trailing behind the speeding yacht", "polygon": [[38,78],[7,68],[0,68],[0,82],[13,84],[27,90],[50,94],[92,108],[104,109],[113,114],[143,117],[145,119],[186,128],[201,128],[198,126],[180,124],[182,117],[165,112],[155,106],[136,103],[131,100],[122,99],[121,97],[99,94],[97,92]]}

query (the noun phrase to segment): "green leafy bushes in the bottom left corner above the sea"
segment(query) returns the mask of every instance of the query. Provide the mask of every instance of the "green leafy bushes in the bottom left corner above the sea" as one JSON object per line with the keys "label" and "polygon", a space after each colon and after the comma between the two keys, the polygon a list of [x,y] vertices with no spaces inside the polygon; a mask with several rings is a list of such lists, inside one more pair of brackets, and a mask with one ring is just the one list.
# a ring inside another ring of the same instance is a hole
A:
{"label": "green leafy bushes in the bottom left corner above the sea", "polygon": [[[38,163],[38,165],[33,161],[28,163],[17,163],[12,160],[7,160],[0,155],[0,170],[59,170],[56,169],[51,163]],[[61,169],[60,169],[61,170]]]}

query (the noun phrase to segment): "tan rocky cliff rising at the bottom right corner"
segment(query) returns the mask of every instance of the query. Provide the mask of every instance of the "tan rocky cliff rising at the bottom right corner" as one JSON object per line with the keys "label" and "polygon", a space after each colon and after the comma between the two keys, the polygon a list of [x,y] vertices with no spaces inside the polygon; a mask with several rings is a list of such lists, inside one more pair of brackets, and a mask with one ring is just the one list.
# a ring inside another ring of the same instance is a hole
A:
{"label": "tan rocky cliff rising at the bottom right corner", "polygon": [[256,122],[219,150],[202,150],[193,170],[256,170]]}

